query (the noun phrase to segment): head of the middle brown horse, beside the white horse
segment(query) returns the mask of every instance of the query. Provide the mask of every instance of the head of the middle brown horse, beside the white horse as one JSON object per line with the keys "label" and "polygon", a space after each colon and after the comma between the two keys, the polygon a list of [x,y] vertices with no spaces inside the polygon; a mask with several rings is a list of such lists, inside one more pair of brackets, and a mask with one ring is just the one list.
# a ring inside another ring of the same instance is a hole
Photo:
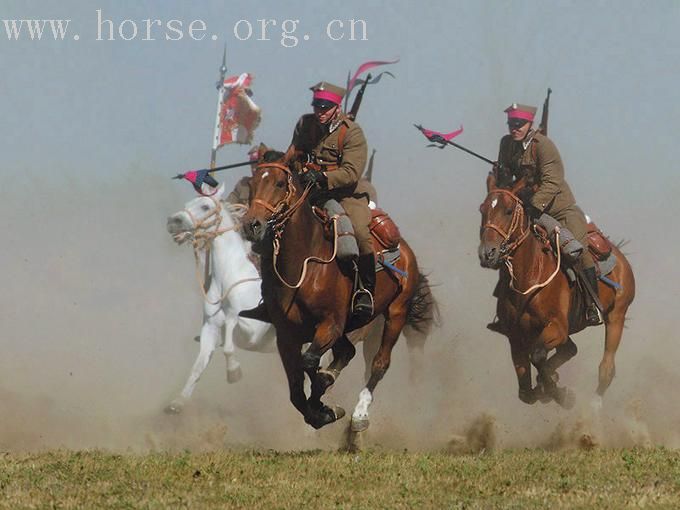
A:
{"label": "head of the middle brown horse, beside the white horse", "polygon": [[260,159],[250,179],[250,207],[244,215],[243,232],[261,251],[271,235],[280,234],[285,223],[302,204],[295,172],[284,163],[283,154],[270,151]]}

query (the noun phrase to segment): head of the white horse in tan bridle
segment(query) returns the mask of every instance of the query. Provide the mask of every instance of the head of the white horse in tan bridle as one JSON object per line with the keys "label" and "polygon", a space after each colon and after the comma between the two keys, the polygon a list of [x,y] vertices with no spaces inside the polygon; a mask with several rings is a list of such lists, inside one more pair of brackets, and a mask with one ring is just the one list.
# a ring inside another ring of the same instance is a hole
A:
{"label": "head of the white horse in tan bridle", "polygon": [[231,216],[222,214],[223,195],[224,184],[221,184],[215,193],[193,198],[184,209],[168,217],[168,232],[177,244],[189,240],[195,243],[201,236],[217,235],[234,227]]}

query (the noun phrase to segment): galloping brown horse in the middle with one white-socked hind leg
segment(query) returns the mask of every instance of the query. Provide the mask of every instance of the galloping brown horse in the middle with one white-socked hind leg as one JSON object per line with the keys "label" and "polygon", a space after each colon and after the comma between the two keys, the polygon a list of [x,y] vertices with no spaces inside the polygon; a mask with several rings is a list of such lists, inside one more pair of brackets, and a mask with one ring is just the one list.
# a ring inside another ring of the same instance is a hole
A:
{"label": "galloping brown horse in the middle with one white-socked hind leg", "polygon": [[[321,396],[355,354],[346,333],[363,324],[350,319],[354,272],[335,260],[335,242],[307,200],[297,175],[281,163],[260,163],[250,180],[250,208],[243,217],[246,237],[262,255],[262,296],[276,328],[277,346],[288,377],[290,400],[315,428],[332,423],[345,412],[321,402]],[[373,358],[371,376],[352,415],[352,430],[368,427],[373,391],[390,366],[392,348],[402,329],[427,331],[436,320],[436,304],[415,255],[400,242],[402,272],[376,276],[375,314],[385,318],[382,340]],[[311,343],[302,354],[302,345]],[[321,355],[333,361],[319,370]],[[311,394],[304,392],[304,374]]]}

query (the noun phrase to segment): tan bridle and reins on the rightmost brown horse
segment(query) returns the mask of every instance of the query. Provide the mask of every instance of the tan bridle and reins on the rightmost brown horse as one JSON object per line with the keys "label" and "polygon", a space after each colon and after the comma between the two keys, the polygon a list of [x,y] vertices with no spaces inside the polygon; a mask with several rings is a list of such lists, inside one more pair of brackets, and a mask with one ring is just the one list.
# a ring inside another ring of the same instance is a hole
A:
{"label": "tan bridle and reins on the rightmost brown horse", "polygon": [[[560,271],[561,263],[562,263],[562,257],[560,253],[560,233],[559,230],[555,230],[555,245],[557,246],[556,251],[556,257],[557,257],[557,265],[555,267],[555,270],[553,273],[548,277],[547,280],[545,280],[543,283],[537,283],[535,285],[532,285],[528,289],[522,291],[517,288],[515,288],[515,273],[513,271],[512,267],[512,253],[519,248],[519,246],[529,237],[529,233],[531,231],[530,229],[530,221],[524,214],[524,207],[522,207],[522,201],[512,193],[511,191],[505,190],[505,189],[495,189],[491,193],[504,193],[508,196],[510,196],[513,201],[515,202],[515,209],[512,213],[512,219],[510,220],[510,226],[508,227],[508,230],[505,231],[498,225],[491,223],[487,221],[484,226],[482,227],[483,229],[491,229],[494,230],[495,232],[498,232],[502,237],[503,237],[503,242],[501,243],[501,255],[500,258],[503,260],[503,263],[505,266],[508,268],[508,273],[510,273],[510,288],[517,292],[518,294],[521,294],[522,296],[526,296],[527,294],[530,294],[534,292],[535,290],[542,289],[543,287],[546,287],[553,279],[555,276],[557,276],[557,273]],[[489,193],[489,194],[491,194]],[[526,221],[525,221],[526,220]],[[526,226],[525,226],[526,223]],[[510,238],[513,236],[515,231],[519,228],[519,236],[512,242],[508,244],[510,241]]]}

